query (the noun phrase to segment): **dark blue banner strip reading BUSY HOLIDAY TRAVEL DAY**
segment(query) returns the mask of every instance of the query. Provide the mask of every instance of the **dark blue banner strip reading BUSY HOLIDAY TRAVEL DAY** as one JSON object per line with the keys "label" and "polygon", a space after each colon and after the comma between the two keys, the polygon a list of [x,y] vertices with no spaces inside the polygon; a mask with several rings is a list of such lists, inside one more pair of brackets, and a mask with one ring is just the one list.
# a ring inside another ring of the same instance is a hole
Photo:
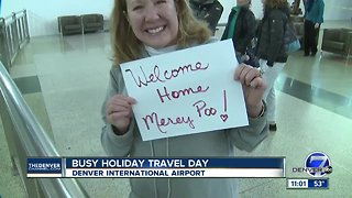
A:
{"label": "dark blue banner strip reading BUSY HOLIDAY TRAVEL DAY", "polygon": [[66,158],[66,168],[285,168],[285,157]]}

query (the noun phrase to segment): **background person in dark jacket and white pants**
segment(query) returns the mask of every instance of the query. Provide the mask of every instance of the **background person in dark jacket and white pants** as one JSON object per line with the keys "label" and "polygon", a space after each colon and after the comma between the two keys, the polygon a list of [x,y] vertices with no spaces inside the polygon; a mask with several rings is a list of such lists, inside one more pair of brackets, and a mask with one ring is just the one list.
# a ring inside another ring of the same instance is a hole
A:
{"label": "background person in dark jacket and white pants", "polygon": [[287,62],[285,26],[289,19],[287,0],[262,0],[264,16],[258,25],[256,56],[260,58],[263,78],[267,82],[264,99],[267,103],[267,121],[271,131],[276,131],[274,84]]}

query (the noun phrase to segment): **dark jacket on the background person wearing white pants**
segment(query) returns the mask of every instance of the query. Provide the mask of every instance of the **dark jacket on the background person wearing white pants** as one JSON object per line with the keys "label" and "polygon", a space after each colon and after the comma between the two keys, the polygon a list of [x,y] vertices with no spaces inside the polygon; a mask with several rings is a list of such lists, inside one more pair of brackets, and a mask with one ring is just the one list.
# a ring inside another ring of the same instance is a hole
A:
{"label": "dark jacket on the background person wearing white pants", "polygon": [[273,66],[274,62],[287,62],[284,36],[288,19],[288,8],[265,9],[264,11],[264,18],[258,26],[256,56],[266,59],[268,66]]}

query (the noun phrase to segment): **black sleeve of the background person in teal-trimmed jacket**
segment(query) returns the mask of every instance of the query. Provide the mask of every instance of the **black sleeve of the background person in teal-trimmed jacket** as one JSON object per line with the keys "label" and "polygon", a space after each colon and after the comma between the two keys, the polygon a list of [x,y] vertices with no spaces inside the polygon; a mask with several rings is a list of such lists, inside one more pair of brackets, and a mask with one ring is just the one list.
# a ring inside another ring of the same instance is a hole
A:
{"label": "black sleeve of the background person in teal-trimmed jacket", "polygon": [[252,11],[248,10],[245,11],[242,19],[242,26],[241,26],[241,33],[244,37],[237,41],[237,51],[239,51],[241,54],[245,53],[245,50],[248,46],[250,46],[251,41],[253,40],[255,35],[255,16]]}

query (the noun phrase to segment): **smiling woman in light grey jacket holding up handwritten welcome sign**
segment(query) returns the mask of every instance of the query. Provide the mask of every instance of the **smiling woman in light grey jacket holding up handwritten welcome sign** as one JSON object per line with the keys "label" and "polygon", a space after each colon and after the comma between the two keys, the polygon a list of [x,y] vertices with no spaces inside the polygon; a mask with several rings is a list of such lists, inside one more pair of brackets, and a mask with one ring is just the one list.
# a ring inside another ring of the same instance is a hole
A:
{"label": "smiling woman in light grey jacket holding up handwritten welcome sign", "polygon": [[[233,146],[251,151],[267,135],[262,100],[266,84],[258,69],[242,64],[233,75],[243,87],[248,127],[142,141],[132,112],[138,101],[127,94],[120,64],[217,42],[207,24],[195,19],[188,0],[114,0],[111,37],[113,66],[101,109],[101,144],[108,155],[228,157],[234,155]],[[233,178],[131,178],[130,183],[130,198],[237,197]]]}

